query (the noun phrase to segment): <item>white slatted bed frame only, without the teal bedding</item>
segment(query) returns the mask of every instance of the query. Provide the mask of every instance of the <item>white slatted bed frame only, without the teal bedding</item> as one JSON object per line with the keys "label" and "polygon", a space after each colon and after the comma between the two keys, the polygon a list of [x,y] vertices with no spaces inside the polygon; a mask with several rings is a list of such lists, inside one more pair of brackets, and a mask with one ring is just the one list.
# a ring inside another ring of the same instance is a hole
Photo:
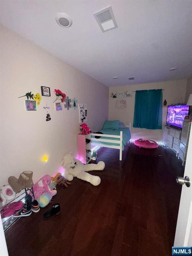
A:
{"label": "white slatted bed frame only, without the teal bedding", "polygon": [[[129,128],[130,133],[131,133],[131,123],[129,123],[129,125],[125,125],[127,128]],[[119,149],[119,160],[122,160],[122,141],[123,141],[123,132],[120,131],[120,135],[109,135],[109,134],[98,134],[98,133],[91,133],[91,136],[100,136],[100,137],[109,137],[109,138],[119,138],[120,141],[114,141],[114,140],[110,140],[110,139],[96,139],[96,138],[91,138],[91,145],[94,146],[99,146],[99,147],[105,147],[105,148],[116,148]],[[119,146],[114,146],[114,145],[106,145],[106,144],[101,144],[101,143],[95,143],[92,141],[98,141],[98,142],[109,142],[109,143],[114,143],[115,144],[119,144]]]}

